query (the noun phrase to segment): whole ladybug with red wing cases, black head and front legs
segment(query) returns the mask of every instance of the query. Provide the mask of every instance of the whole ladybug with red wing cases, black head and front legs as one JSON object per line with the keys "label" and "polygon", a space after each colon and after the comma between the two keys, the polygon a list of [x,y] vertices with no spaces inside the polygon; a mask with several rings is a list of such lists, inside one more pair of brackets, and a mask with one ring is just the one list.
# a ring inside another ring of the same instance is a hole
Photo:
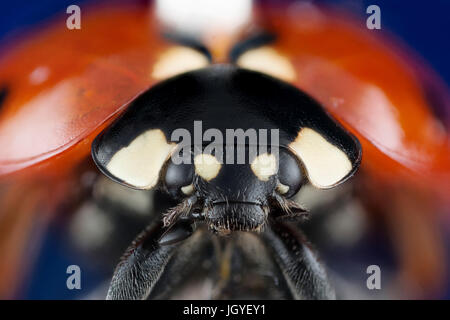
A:
{"label": "whole ladybug with red wing cases, black head and front legs", "polygon": [[91,157],[113,181],[176,203],[126,250],[108,299],[151,297],[182,268],[168,267],[177,257],[236,232],[258,238],[290,297],[335,298],[287,222],[308,217],[294,196],[334,188],[361,164],[374,185],[395,177],[446,198],[450,149],[402,59],[334,12],[308,10],[257,6],[239,28],[186,32],[158,6],[116,4],[87,12],[81,30],[55,22],[8,50],[2,201],[28,221],[8,229],[30,228],[32,212],[50,220]]}

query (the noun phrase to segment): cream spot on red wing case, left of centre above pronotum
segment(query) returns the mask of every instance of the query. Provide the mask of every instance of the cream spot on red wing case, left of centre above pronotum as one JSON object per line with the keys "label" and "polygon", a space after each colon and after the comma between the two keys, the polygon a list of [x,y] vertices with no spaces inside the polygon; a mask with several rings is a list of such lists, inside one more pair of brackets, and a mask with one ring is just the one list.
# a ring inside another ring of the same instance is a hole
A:
{"label": "cream spot on red wing case, left of centre above pronotum", "polygon": [[161,55],[153,67],[152,77],[167,79],[183,72],[206,67],[208,64],[208,59],[197,50],[177,46]]}

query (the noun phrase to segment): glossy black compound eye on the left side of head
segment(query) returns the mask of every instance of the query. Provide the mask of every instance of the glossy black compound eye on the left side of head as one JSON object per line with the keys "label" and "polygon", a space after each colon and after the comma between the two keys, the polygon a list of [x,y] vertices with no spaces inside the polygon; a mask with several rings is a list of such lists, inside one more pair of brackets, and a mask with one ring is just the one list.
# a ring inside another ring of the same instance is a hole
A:
{"label": "glossy black compound eye on the left side of head", "polygon": [[166,169],[164,182],[169,194],[178,198],[193,193],[193,178],[194,167],[192,164],[175,164],[170,160]]}

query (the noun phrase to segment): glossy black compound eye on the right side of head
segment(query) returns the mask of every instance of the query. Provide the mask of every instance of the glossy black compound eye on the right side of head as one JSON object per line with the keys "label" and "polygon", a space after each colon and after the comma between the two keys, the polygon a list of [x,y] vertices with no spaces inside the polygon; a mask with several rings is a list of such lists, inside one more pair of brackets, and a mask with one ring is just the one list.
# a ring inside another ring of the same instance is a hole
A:
{"label": "glossy black compound eye on the right side of head", "polygon": [[278,181],[277,191],[286,198],[294,196],[304,183],[300,163],[293,154],[284,149],[280,150]]}

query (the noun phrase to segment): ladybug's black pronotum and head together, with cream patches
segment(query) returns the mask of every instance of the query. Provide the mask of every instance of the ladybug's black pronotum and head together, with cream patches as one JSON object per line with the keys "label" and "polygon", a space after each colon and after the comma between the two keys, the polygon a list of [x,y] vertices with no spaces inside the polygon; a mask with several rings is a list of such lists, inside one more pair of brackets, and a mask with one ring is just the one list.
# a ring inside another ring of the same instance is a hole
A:
{"label": "ladybug's black pronotum and head together, with cream patches", "polygon": [[259,230],[308,180],[329,188],[352,175],[357,140],[309,96],[233,65],[212,65],[145,92],[93,143],[112,179],[161,186],[195,202],[219,233]]}

